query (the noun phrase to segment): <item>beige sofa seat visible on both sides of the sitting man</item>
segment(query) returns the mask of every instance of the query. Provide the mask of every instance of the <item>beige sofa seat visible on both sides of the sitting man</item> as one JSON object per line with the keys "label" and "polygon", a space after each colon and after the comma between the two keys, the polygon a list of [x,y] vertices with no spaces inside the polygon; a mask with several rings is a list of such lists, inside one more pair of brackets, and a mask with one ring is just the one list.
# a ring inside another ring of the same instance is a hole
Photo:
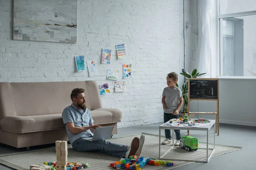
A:
{"label": "beige sofa seat visible on both sides of the sitting man", "polygon": [[[122,111],[100,108],[90,111],[94,124],[120,122]],[[37,116],[6,116],[0,120],[0,128],[14,133],[53,130],[64,127],[61,113]]]}

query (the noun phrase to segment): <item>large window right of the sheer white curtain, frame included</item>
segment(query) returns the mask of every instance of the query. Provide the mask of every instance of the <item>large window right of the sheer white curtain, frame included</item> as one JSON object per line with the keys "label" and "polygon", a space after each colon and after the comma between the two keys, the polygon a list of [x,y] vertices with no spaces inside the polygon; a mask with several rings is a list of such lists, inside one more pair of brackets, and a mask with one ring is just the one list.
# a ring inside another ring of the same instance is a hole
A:
{"label": "large window right of the sheer white curtain, frame included", "polygon": [[256,77],[256,0],[218,1],[221,77]]}

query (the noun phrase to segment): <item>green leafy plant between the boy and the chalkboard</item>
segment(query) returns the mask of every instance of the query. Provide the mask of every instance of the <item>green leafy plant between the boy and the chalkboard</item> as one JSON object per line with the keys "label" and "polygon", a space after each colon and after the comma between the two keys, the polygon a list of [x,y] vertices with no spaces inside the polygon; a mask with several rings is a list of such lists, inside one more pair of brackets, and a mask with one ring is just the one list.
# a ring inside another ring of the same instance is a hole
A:
{"label": "green leafy plant between the boy and the chalkboard", "polygon": [[[187,115],[188,113],[188,79],[189,78],[197,78],[201,75],[204,75],[206,73],[202,73],[200,74],[197,69],[194,69],[192,71],[191,74],[189,74],[188,71],[186,71],[185,69],[182,69],[182,73],[180,73],[181,75],[183,75],[184,77],[186,77],[185,82],[182,85],[182,88],[180,88],[180,90],[182,91],[182,97],[183,97],[183,109],[180,111],[182,116]],[[176,83],[176,87],[179,87],[179,85]]]}

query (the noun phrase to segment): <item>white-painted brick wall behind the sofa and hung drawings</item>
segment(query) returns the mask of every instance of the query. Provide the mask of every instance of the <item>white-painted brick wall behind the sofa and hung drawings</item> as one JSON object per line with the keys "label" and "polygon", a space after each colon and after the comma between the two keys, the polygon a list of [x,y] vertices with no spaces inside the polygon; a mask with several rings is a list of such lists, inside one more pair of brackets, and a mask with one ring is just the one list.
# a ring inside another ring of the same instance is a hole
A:
{"label": "white-painted brick wall behind the sofa and hung drawings", "polygon": [[[161,94],[166,74],[183,68],[182,0],[78,0],[77,44],[12,40],[12,1],[0,1],[0,82],[96,80],[111,94],[103,106],[123,111],[119,127],[163,122]],[[116,60],[115,45],[127,57]],[[99,76],[76,72],[75,55],[100,63],[102,48],[112,49],[111,65],[98,64]],[[126,93],[113,93],[107,68],[132,64]],[[181,80],[182,81],[182,80]]]}

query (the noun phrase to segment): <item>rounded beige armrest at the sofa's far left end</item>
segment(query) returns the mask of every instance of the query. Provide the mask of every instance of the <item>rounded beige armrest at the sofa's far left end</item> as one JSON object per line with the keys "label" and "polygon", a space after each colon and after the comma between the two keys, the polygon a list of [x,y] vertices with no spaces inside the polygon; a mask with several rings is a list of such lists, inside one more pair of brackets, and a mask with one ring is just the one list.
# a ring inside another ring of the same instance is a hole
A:
{"label": "rounded beige armrest at the sofa's far left end", "polygon": [[35,120],[26,116],[6,116],[0,120],[0,129],[13,133],[35,130]]}

